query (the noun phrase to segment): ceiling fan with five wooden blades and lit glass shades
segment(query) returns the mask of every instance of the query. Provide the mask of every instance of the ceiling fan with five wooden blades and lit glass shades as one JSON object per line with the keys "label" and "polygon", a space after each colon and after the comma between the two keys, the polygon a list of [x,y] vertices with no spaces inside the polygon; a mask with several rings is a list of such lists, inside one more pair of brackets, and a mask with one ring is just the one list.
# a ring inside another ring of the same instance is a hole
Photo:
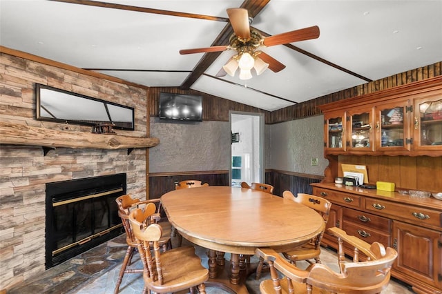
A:
{"label": "ceiling fan with five wooden blades and lit glass shades", "polygon": [[233,28],[229,45],[180,50],[181,55],[236,50],[236,55],[227,61],[220,72],[218,72],[217,77],[223,77],[226,74],[233,77],[238,68],[240,68],[240,79],[251,79],[252,68],[255,69],[257,75],[260,75],[267,68],[273,72],[279,72],[285,68],[285,65],[267,55],[267,53],[257,50],[260,46],[269,47],[319,37],[318,26],[283,32],[270,37],[262,37],[260,32],[250,28],[247,9],[228,8],[227,14]]}

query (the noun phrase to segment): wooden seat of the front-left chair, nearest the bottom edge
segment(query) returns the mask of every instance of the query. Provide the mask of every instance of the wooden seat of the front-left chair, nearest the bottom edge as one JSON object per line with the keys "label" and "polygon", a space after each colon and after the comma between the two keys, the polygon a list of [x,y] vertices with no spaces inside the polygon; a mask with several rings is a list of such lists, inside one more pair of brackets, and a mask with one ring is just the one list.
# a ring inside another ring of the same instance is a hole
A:
{"label": "wooden seat of the front-left chair, nearest the bottom edge", "polygon": [[209,270],[202,266],[193,246],[178,247],[162,253],[161,264],[163,284],[152,281],[144,273],[144,280],[148,281],[147,287],[153,292],[180,291],[189,288],[186,285],[202,284],[209,278]]}

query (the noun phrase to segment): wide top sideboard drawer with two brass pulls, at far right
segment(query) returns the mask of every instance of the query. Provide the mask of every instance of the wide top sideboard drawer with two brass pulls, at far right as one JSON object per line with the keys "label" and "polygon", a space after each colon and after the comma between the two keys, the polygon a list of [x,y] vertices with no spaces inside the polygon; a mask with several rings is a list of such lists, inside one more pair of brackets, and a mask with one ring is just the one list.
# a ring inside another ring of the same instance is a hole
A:
{"label": "wide top sideboard drawer with two brass pulls, at far right", "polygon": [[387,217],[409,220],[416,226],[442,226],[442,213],[431,209],[371,198],[365,199],[365,209]]}

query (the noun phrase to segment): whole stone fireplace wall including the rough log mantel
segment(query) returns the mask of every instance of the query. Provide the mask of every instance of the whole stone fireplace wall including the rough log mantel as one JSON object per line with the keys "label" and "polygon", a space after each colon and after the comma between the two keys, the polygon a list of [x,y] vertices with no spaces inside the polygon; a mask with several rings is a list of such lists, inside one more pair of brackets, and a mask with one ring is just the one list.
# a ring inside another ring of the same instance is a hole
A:
{"label": "whole stone fireplace wall including the rough log mantel", "polygon": [[[0,292],[32,280],[46,269],[47,184],[125,174],[126,193],[146,199],[149,147],[137,145],[146,141],[149,130],[145,88],[96,73],[88,75],[86,70],[23,52],[3,50],[6,49],[1,48],[0,52]],[[86,126],[37,121],[35,83],[133,107],[135,130],[99,135],[90,133]],[[106,138],[111,139],[109,144],[103,143]],[[111,200],[108,203],[111,207]],[[99,223],[108,216],[99,217]],[[86,241],[85,238],[81,240]]]}

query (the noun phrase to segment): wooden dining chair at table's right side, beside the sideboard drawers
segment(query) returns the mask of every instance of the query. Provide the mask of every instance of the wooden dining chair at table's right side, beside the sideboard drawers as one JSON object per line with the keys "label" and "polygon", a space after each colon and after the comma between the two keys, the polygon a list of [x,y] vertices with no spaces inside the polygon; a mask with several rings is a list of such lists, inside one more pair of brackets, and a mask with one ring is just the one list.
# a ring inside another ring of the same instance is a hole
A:
{"label": "wooden dining chair at table's right side, beside the sideboard drawers", "polygon": [[[325,227],[327,226],[327,222],[329,220],[330,208],[332,207],[332,202],[329,202],[327,199],[322,197],[318,197],[315,195],[309,195],[305,193],[298,193],[298,195],[294,196],[289,190],[285,190],[282,193],[282,197],[285,199],[293,200],[299,204],[303,204],[316,210],[324,219],[325,226],[323,231],[321,231],[318,235],[316,235],[313,239],[311,239],[308,243],[297,246],[296,248],[291,249],[290,251],[282,253],[285,258],[289,259],[292,264],[296,265],[296,262],[299,260],[305,260],[311,263],[310,259],[314,259],[316,263],[320,263],[319,255],[320,255],[320,242],[323,239],[323,235],[325,233]],[[260,262],[258,263],[258,268],[256,269],[256,280],[259,280],[261,277],[261,271],[263,266],[262,258],[260,258]]]}

